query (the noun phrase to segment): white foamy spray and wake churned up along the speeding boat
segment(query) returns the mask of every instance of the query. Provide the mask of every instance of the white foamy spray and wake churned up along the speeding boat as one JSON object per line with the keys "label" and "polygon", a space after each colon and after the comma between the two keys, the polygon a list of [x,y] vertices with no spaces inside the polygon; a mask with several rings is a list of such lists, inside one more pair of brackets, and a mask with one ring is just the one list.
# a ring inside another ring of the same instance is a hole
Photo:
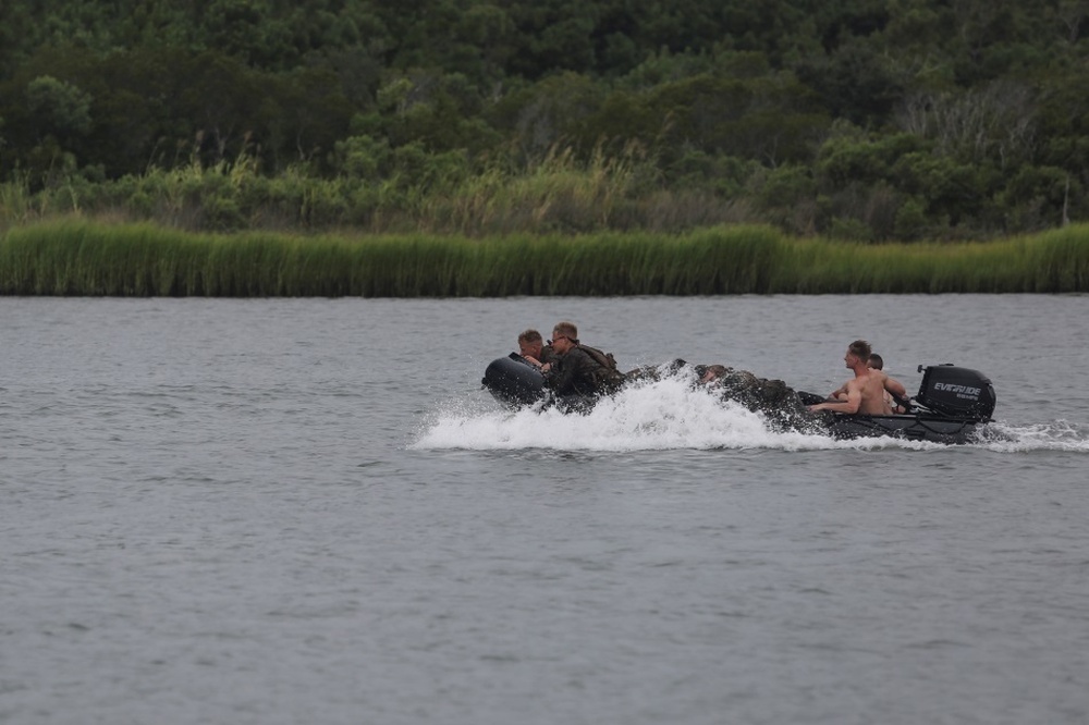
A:
{"label": "white foamy spray and wake churned up along the speeding boat", "polygon": [[[1027,427],[995,422],[972,445],[998,452],[1089,453],[1089,430],[1063,421]],[[947,446],[894,438],[834,440],[781,432],[757,413],[723,403],[682,378],[629,385],[586,415],[539,406],[510,410],[486,393],[448,401],[427,414],[413,450],[664,451],[715,448],[943,450]]]}

